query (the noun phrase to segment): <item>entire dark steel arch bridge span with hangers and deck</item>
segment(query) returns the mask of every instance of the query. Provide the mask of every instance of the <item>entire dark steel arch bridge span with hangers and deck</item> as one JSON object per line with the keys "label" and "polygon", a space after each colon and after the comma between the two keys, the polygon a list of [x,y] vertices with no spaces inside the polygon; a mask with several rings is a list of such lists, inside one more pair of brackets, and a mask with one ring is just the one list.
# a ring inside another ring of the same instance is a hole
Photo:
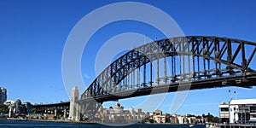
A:
{"label": "entire dark steel arch bridge span with hangers and deck", "polygon": [[113,61],[81,95],[85,117],[102,102],[179,90],[256,84],[256,43],[206,36],[166,38]]}

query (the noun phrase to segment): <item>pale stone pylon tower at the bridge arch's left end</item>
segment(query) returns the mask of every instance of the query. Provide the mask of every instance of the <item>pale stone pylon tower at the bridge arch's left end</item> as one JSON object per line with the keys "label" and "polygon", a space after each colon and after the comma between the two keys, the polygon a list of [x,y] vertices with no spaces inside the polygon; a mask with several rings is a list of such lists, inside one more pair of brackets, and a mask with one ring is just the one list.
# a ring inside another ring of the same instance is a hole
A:
{"label": "pale stone pylon tower at the bridge arch's left end", "polygon": [[70,96],[70,107],[69,107],[69,118],[71,120],[79,121],[80,113],[79,113],[79,89],[77,86],[73,87],[71,90]]}

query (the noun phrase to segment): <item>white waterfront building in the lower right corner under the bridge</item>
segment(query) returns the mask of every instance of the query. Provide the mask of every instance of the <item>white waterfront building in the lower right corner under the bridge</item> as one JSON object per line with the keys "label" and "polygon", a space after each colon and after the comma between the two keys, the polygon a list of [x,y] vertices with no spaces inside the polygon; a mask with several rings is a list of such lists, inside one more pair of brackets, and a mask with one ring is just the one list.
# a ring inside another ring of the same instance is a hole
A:
{"label": "white waterfront building in the lower right corner under the bridge", "polygon": [[218,108],[222,123],[228,123],[229,120],[230,123],[239,124],[256,122],[256,99],[231,100],[229,104],[220,104]]}

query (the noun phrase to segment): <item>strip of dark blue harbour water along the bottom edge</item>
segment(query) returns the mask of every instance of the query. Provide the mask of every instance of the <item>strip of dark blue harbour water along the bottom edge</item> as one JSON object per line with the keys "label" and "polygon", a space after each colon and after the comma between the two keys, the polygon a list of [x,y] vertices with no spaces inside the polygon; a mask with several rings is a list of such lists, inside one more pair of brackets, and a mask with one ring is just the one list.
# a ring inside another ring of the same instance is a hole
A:
{"label": "strip of dark blue harbour water along the bottom edge", "polygon": [[[19,120],[0,120],[1,128],[49,128],[49,127],[67,127],[67,128],[105,128],[105,127],[115,127],[109,125],[102,125],[96,123],[68,123],[68,122],[53,122],[53,121],[19,121]],[[189,128],[189,125],[162,125],[162,124],[133,124],[121,126],[122,128]],[[194,125],[194,128],[206,128],[206,125]]]}

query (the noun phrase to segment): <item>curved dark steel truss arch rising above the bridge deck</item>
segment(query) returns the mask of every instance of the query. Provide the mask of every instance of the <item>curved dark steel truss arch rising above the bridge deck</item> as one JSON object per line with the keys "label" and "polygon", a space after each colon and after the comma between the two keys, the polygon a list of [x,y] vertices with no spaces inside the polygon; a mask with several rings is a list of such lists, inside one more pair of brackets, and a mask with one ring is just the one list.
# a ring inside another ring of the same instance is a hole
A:
{"label": "curved dark steel truss arch rising above the bridge deck", "polygon": [[[233,47],[233,44],[236,44],[236,48]],[[253,48],[252,52],[249,53],[250,55],[248,58],[246,58],[245,55],[247,54],[245,52],[246,45]],[[230,74],[254,72],[254,70],[248,66],[253,60],[255,51],[255,43],[233,38],[188,36],[157,40],[149,44],[144,44],[138,48],[131,49],[131,51],[113,61],[98,75],[93,83],[90,84],[89,88],[84,91],[82,98],[83,96],[88,95],[106,95],[108,94],[108,91],[103,90],[103,87],[111,85],[110,83],[112,83],[113,86],[117,85],[120,81],[125,79],[131,71],[142,67],[150,61],[155,61],[168,56],[189,55],[193,57],[193,61],[195,61],[194,57],[197,57],[197,59],[201,57],[204,61],[212,60],[215,63],[215,71],[212,72],[215,73],[212,73],[211,75],[222,74],[221,70],[223,69],[219,68],[221,64],[226,65],[226,72],[229,72]],[[241,55],[238,56],[239,52],[241,52]],[[241,63],[235,61],[238,57],[241,57],[239,58]],[[193,67],[193,70],[195,70],[195,66]],[[235,69],[236,72],[234,72],[233,69]],[[192,72],[194,79],[196,75],[195,73],[198,72],[205,73],[209,71],[205,69],[203,71]],[[173,76],[172,82],[177,81],[174,77],[175,76]]]}

